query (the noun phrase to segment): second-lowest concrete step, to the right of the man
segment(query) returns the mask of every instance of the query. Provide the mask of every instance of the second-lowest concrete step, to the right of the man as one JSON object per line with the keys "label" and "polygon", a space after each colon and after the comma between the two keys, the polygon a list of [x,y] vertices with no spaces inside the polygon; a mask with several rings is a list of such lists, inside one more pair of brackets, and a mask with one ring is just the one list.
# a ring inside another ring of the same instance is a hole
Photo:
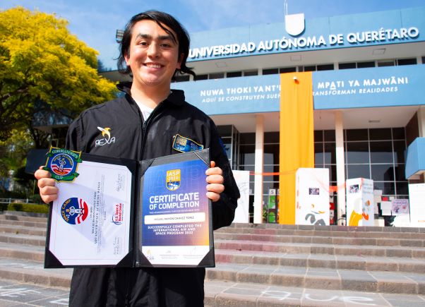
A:
{"label": "second-lowest concrete step, to the right of the man", "polygon": [[271,253],[258,251],[229,251],[215,249],[216,263],[250,265],[282,265],[293,267],[328,267],[332,269],[425,272],[424,259],[387,258],[363,255],[320,255],[309,253]]}

